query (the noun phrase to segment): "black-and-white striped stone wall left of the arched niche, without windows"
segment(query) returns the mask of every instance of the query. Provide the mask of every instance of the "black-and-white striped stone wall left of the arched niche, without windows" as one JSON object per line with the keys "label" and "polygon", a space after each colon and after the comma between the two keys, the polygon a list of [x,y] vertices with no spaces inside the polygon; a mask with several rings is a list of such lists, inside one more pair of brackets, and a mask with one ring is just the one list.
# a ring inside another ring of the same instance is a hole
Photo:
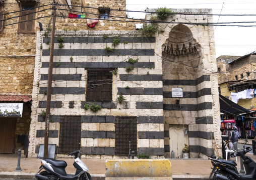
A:
{"label": "black-and-white striped stone wall left of the arched niche, without windows", "polygon": [[[103,34],[108,38],[103,39]],[[29,155],[37,155],[43,143],[44,122],[38,115],[46,107],[47,73],[49,66],[49,38],[38,32],[33,87],[32,121],[30,125]],[[135,37],[135,31],[57,31],[64,38],[64,47],[54,44],[52,108],[49,143],[59,146],[61,117],[81,116],[81,147],[87,158],[113,158],[115,154],[115,118],[137,117],[137,151],[153,156],[164,155],[164,125],[162,98],[162,63],[154,54],[156,38]],[[119,36],[120,44],[112,45]],[[123,42],[127,42],[124,44]],[[105,48],[114,48],[106,53]],[[71,57],[73,60],[71,62]],[[138,59],[134,65],[129,58]],[[134,70],[127,73],[126,67]],[[112,100],[90,102],[86,99],[87,70],[117,68],[112,79]],[[125,87],[129,89],[125,89]],[[117,97],[123,94],[125,102]],[[97,104],[102,108],[96,113],[83,109],[84,104]],[[63,156],[62,154],[57,154]]]}

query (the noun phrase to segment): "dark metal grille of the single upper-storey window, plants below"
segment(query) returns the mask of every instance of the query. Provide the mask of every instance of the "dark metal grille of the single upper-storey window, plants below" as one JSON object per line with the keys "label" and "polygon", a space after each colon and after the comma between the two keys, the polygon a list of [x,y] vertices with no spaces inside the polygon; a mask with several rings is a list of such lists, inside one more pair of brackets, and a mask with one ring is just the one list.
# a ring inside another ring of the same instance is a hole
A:
{"label": "dark metal grille of the single upper-storey window, plants below", "polygon": [[112,101],[112,71],[88,70],[86,101]]}

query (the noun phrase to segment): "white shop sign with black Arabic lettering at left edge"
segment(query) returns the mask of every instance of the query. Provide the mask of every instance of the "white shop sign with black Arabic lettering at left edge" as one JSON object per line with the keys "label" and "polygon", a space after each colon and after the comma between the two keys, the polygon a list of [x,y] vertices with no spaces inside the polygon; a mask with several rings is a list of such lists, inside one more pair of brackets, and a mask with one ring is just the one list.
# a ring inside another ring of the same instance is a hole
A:
{"label": "white shop sign with black Arabic lettering at left edge", "polygon": [[0,117],[22,117],[22,103],[0,103]]}

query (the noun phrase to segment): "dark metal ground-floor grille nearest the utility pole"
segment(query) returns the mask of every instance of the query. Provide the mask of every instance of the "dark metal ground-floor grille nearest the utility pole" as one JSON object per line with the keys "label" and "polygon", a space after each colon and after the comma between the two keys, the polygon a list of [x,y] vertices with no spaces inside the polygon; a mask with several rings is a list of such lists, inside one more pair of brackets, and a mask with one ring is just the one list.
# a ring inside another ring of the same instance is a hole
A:
{"label": "dark metal ground-floor grille nearest the utility pole", "polygon": [[62,116],[59,130],[59,153],[80,150],[81,116]]}

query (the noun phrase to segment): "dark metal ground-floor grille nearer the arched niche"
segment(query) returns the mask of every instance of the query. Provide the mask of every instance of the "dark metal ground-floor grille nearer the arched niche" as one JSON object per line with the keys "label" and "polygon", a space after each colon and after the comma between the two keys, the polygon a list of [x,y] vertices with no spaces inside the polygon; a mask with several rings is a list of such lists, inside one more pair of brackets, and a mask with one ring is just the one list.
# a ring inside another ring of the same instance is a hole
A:
{"label": "dark metal ground-floor grille nearer the arched niche", "polygon": [[128,155],[129,141],[131,151],[137,154],[137,117],[116,116],[115,117],[115,154]]}

